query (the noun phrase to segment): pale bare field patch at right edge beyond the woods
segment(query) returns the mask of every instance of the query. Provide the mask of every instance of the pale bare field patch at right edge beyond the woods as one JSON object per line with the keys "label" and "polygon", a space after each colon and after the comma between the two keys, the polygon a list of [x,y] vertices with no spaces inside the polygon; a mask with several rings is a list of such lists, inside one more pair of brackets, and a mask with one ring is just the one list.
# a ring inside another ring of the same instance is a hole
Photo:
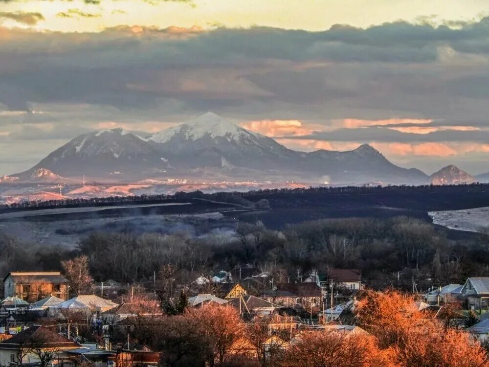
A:
{"label": "pale bare field patch at right edge beyond the woods", "polygon": [[481,232],[489,229],[489,207],[474,209],[428,211],[433,224],[449,229]]}

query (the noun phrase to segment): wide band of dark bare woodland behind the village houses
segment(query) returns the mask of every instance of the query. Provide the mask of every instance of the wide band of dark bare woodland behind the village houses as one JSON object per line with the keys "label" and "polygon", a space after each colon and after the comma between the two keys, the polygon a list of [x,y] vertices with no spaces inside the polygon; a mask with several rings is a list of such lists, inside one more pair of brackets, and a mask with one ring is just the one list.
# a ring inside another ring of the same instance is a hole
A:
{"label": "wide band of dark bare woodland behind the village houses", "polygon": [[[151,281],[168,266],[181,284],[247,266],[269,272],[276,282],[299,280],[313,269],[357,268],[376,288],[411,289],[414,278],[427,289],[489,275],[488,233],[453,240],[444,230],[408,217],[322,219],[281,231],[261,222],[240,222],[233,235],[93,232],[69,250],[0,234],[0,251],[2,274],[58,269],[60,261],[85,255],[97,281],[126,283]],[[431,280],[422,284],[423,279]]]}

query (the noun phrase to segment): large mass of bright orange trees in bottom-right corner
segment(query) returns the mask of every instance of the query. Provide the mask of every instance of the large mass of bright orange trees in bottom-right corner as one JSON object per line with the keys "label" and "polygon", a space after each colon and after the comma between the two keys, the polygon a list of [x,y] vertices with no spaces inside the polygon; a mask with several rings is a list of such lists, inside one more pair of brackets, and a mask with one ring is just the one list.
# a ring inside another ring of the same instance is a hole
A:
{"label": "large mass of bright orange trees in bottom-right corner", "polygon": [[355,311],[359,326],[391,353],[396,366],[489,366],[479,343],[461,331],[446,330],[433,313],[421,312],[414,296],[393,289],[366,290],[359,296]]}

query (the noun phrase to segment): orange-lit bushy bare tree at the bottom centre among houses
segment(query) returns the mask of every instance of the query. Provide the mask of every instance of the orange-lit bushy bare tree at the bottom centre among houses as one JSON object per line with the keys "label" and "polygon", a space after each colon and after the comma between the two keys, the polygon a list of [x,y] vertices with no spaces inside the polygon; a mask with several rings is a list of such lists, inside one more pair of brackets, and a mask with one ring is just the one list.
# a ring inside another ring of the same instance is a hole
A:
{"label": "orange-lit bushy bare tree at the bottom centre among houses", "polygon": [[232,306],[208,303],[186,311],[186,318],[195,320],[214,350],[215,359],[222,363],[229,352],[243,337],[244,325]]}

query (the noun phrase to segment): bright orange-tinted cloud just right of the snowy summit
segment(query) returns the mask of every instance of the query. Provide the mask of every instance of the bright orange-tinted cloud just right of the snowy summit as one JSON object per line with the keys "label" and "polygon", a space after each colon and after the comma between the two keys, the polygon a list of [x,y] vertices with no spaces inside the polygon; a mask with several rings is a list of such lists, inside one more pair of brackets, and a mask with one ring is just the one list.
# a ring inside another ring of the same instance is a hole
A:
{"label": "bright orange-tinted cloud just right of the snowy summit", "polygon": [[322,130],[317,124],[304,124],[299,120],[261,120],[241,124],[245,129],[266,135],[267,137],[286,137],[310,135]]}

